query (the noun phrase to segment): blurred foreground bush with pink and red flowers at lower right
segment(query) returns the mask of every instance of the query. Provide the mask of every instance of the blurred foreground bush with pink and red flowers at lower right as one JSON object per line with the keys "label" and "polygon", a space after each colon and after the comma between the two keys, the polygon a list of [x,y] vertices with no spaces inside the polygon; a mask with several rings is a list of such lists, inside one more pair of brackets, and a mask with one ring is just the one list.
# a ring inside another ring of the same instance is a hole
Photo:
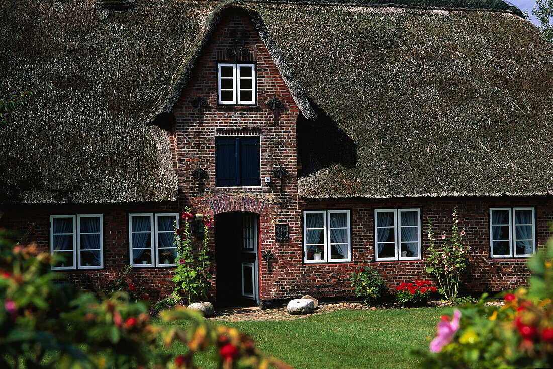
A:
{"label": "blurred foreground bush with pink and red flowers at lower right", "polygon": [[[435,353],[416,351],[423,368],[542,368],[553,363],[553,243],[547,253],[529,260],[534,275],[527,291],[504,295],[505,305],[477,304],[460,308],[460,327],[451,336],[440,334],[445,346]],[[448,323],[446,322],[445,325]],[[443,331],[442,331],[443,333]]]}

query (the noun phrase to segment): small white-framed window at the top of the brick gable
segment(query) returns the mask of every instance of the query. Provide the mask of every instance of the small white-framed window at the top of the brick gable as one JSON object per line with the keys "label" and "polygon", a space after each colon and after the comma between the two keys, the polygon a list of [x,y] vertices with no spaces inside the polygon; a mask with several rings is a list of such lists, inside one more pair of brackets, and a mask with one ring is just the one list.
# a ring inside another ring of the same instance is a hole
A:
{"label": "small white-framed window at the top of the brick gable", "polygon": [[255,104],[255,64],[217,65],[218,104]]}

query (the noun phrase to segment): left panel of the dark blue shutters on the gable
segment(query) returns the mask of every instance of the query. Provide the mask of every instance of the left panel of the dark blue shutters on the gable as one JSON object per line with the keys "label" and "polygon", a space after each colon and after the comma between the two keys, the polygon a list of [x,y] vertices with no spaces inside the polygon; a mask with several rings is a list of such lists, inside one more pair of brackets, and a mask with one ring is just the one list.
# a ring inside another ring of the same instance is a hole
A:
{"label": "left panel of the dark blue shutters on the gable", "polygon": [[215,137],[215,186],[237,186],[238,150],[236,137]]}

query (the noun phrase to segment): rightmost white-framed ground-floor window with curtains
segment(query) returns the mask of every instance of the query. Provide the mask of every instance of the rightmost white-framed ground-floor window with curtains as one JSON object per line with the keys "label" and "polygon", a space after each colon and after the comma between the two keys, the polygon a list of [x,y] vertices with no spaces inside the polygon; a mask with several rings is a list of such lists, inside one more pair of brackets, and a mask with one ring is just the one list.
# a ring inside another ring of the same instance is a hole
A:
{"label": "rightmost white-framed ground-floor window with curtains", "polygon": [[490,208],[492,258],[528,258],[536,252],[534,208]]}

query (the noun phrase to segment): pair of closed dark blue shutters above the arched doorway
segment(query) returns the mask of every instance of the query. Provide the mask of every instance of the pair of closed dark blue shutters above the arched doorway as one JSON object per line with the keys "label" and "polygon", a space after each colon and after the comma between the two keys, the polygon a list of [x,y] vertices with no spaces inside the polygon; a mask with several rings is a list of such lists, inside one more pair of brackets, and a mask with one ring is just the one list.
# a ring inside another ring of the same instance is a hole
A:
{"label": "pair of closed dark blue shutters above the arched doorway", "polygon": [[260,186],[259,137],[215,137],[215,186]]}

